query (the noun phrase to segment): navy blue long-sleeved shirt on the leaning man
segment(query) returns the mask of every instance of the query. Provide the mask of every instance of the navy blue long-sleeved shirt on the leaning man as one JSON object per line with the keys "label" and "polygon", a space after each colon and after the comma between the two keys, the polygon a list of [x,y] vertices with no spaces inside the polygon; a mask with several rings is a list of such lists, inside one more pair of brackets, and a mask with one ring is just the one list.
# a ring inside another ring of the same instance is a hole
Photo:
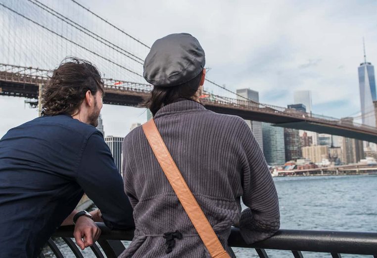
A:
{"label": "navy blue long-sleeved shirt on the leaning man", "polygon": [[43,116],[0,140],[0,258],[39,255],[84,192],[110,228],[134,226],[102,134],[70,115]]}

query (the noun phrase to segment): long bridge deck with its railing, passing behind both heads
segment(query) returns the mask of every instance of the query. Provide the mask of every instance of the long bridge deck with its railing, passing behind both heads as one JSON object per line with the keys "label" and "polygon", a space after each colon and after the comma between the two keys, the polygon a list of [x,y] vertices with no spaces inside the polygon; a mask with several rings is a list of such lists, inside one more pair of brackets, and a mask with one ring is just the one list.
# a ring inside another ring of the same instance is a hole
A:
{"label": "long bridge deck with its railing, passing behind both heads", "polygon": [[[39,84],[47,82],[47,70],[0,64],[0,95],[38,99]],[[103,103],[138,106],[148,96],[151,85],[104,79]],[[351,121],[323,117],[294,109],[236,100],[209,94],[202,99],[214,112],[238,115],[246,120],[272,123],[275,126],[339,135],[377,143],[377,128]]]}

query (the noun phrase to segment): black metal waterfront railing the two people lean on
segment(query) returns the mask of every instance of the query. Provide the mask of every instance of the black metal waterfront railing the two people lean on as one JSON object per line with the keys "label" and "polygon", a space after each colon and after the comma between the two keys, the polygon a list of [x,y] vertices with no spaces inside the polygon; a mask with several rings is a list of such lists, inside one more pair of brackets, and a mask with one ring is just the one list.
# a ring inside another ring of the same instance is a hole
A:
{"label": "black metal waterfront railing the two people lean on", "polygon": [[[102,233],[91,247],[93,257],[96,258],[118,257],[125,249],[121,241],[132,241],[134,236],[133,230],[110,230],[103,223],[97,225]],[[48,240],[47,246],[57,258],[63,258],[65,252],[70,252],[70,257],[73,254],[76,258],[83,258],[72,237],[73,226],[60,227]],[[59,238],[63,241],[59,241]],[[377,233],[282,229],[269,239],[248,245],[243,241],[239,229],[232,228],[228,243],[231,247],[255,249],[260,258],[268,258],[269,250],[290,251],[294,258],[303,258],[303,251],[329,253],[328,257],[332,258],[341,258],[341,254],[369,255],[371,258],[377,258]],[[64,252],[61,249],[64,249]],[[41,253],[39,257],[45,258],[46,253]]]}

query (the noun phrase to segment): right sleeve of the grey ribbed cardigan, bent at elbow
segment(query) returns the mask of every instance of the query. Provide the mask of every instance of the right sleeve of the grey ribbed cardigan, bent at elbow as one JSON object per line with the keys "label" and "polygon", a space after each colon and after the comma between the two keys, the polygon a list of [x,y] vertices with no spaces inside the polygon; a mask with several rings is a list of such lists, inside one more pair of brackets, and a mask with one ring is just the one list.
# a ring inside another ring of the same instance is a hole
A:
{"label": "right sleeve of the grey ribbed cardigan, bent at elbow", "polygon": [[242,121],[242,201],[248,207],[241,213],[240,232],[247,244],[264,240],[280,227],[279,200],[275,184],[254,135]]}

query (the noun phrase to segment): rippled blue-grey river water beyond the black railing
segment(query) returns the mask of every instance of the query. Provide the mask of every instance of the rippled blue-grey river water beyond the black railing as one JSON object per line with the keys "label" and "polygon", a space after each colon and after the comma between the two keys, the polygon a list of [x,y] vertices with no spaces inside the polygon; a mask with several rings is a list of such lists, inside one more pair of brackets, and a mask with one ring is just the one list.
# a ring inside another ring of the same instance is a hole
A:
{"label": "rippled blue-grey river water beyond the black railing", "polygon": [[[377,175],[275,177],[274,181],[282,229],[377,232]],[[239,258],[258,257],[255,250],[233,250]],[[270,258],[293,257],[289,251],[266,252]],[[309,252],[303,252],[303,256],[331,257]],[[94,255],[89,251],[84,257]],[[356,257],[368,256],[342,255],[342,258]]]}

